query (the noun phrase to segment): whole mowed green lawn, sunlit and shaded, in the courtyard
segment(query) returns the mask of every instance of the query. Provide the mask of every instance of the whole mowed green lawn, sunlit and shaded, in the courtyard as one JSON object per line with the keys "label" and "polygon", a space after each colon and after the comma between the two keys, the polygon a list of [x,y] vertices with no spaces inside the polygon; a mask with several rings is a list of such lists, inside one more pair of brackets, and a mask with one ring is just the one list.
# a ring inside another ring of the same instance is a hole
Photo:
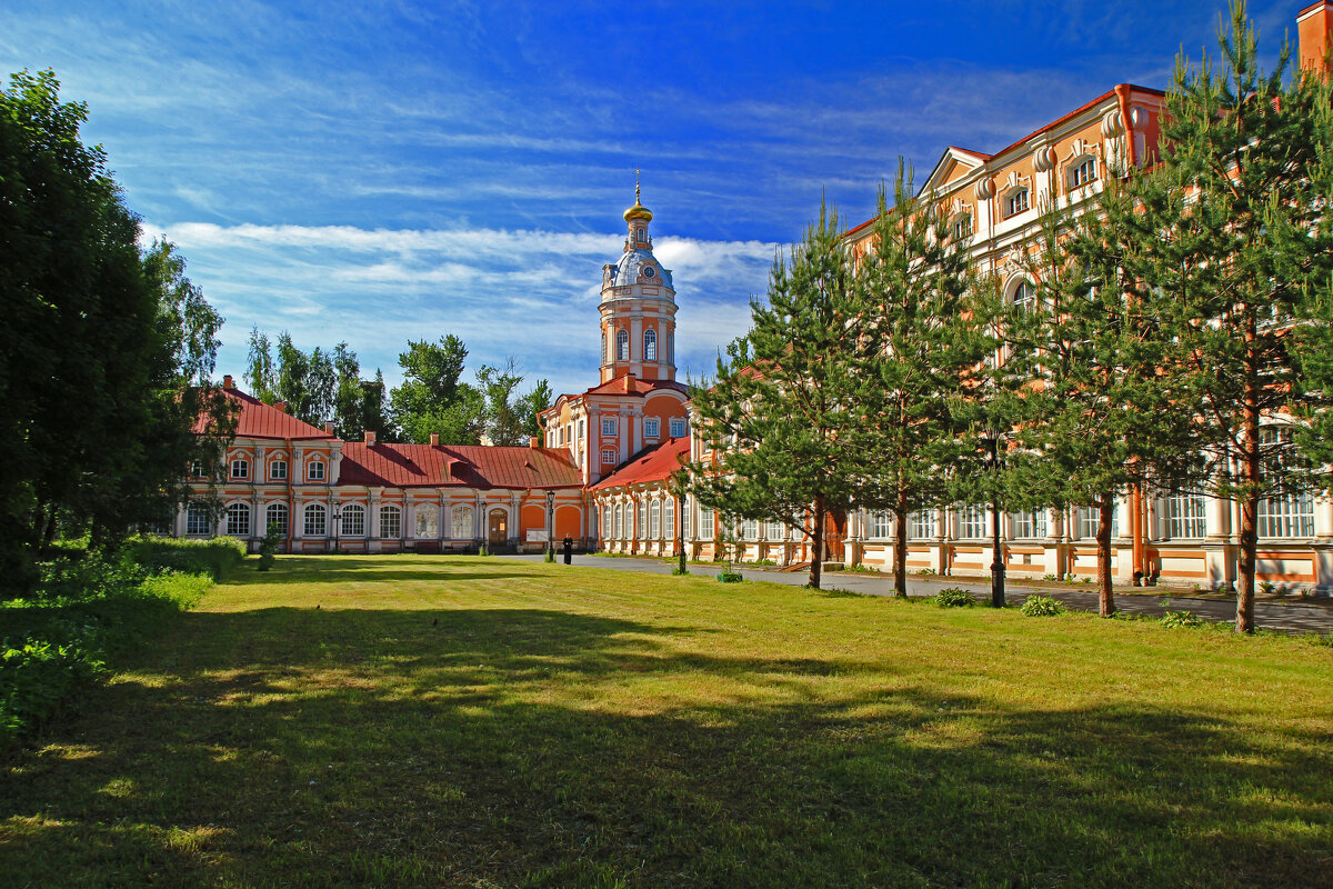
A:
{"label": "whole mowed green lawn, sunlit and shaded, in the courtyard", "polygon": [[479,557],[252,566],[0,778],[17,886],[1330,886],[1333,649]]}

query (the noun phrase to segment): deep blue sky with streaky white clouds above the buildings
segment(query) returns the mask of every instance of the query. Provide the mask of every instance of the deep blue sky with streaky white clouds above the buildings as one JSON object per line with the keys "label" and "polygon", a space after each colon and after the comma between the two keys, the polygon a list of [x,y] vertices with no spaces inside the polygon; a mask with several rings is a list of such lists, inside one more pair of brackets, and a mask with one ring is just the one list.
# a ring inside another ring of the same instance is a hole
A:
{"label": "deep blue sky with streaky white clouds above the buildings", "polygon": [[[1297,1],[1254,1],[1294,39]],[[556,391],[596,383],[600,268],[643,168],[677,359],[708,372],[821,195],[866,219],[898,155],[996,151],[1116,83],[1165,87],[1221,0],[408,3],[9,0],[0,69],[87,101],[147,235],[227,317],[345,340],[400,379],[461,336]]]}

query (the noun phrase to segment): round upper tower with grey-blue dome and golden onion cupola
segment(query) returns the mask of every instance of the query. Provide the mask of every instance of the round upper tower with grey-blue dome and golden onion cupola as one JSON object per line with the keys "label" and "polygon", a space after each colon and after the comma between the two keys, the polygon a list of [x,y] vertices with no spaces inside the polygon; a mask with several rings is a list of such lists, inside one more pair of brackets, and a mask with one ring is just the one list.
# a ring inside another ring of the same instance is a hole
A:
{"label": "round upper tower with grey-blue dome and golden onion cupola", "polygon": [[676,379],[676,291],[670,269],[653,256],[648,224],[653,213],[643,205],[635,171],[635,205],[625,211],[625,249],[603,267],[601,381],[625,375],[640,380]]}

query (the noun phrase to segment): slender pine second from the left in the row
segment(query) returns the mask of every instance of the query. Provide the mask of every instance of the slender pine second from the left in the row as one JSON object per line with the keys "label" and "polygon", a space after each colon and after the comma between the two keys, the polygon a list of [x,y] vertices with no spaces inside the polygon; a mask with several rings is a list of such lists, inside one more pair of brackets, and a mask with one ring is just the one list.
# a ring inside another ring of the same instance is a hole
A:
{"label": "slender pine second from the left in the row", "polygon": [[929,196],[912,193],[898,161],[893,205],[878,213],[856,276],[850,440],[870,465],[860,505],[896,518],[893,585],[906,596],[908,517],[949,498],[949,469],[976,448],[969,396],[994,349],[990,308],[970,288],[968,235]]}

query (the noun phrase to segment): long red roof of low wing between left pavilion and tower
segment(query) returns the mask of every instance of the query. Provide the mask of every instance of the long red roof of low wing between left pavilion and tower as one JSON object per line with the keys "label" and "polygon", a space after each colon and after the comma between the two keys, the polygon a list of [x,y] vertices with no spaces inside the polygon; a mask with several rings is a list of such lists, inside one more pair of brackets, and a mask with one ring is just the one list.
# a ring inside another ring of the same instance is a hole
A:
{"label": "long red roof of low wing between left pavilion and tower", "polygon": [[416,445],[348,441],[340,485],[580,488],[568,448]]}

